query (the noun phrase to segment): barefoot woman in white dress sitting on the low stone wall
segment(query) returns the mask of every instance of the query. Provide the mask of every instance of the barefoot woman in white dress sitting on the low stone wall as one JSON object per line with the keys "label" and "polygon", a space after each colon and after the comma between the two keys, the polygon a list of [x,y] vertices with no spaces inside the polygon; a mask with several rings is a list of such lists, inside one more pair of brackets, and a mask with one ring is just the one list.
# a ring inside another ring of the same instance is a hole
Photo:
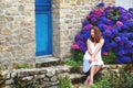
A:
{"label": "barefoot woman in white dress sitting on the low stone wall", "polygon": [[94,75],[102,68],[104,65],[101,57],[101,48],[104,44],[104,38],[101,35],[101,31],[93,26],[90,31],[90,37],[86,41],[88,51],[83,57],[83,72],[90,75],[86,77],[84,85],[93,85]]}

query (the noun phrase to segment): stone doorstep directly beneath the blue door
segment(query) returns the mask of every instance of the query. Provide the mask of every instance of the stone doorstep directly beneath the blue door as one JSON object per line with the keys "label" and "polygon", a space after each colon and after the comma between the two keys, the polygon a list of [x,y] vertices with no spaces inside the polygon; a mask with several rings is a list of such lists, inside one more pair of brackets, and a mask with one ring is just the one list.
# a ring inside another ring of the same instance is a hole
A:
{"label": "stone doorstep directly beneath the blue door", "polygon": [[52,56],[45,56],[45,57],[37,57],[35,58],[35,67],[50,67],[50,66],[57,66],[61,65],[61,59]]}

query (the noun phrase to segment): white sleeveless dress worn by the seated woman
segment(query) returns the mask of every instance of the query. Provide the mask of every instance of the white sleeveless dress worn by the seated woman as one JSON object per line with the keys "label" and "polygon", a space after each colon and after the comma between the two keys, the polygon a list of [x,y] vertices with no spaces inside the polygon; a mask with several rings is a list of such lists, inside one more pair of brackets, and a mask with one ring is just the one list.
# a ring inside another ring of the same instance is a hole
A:
{"label": "white sleeveless dress worn by the seated woman", "polygon": [[[91,51],[93,53],[96,50],[96,47],[99,46],[100,43],[94,45],[90,40],[89,40],[89,42],[90,42]],[[84,56],[83,56],[83,72],[84,73],[89,72],[89,69],[91,68],[92,65],[102,65],[102,67],[104,66],[104,63],[103,63],[102,57],[101,57],[101,50],[99,51],[99,53],[95,56],[95,58],[98,59],[96,62],[89,63],[90,58],[91,58],[91,55],[86,51]]]}

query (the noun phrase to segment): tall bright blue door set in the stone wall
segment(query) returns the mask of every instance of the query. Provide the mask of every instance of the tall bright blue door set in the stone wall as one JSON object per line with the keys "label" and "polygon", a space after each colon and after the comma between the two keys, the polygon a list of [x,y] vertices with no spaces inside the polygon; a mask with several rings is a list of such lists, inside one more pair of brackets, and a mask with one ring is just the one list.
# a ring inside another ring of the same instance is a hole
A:
{"label": "tall bright blue door set in the stone wall", "polygon": [[35,0],[35,55],[52,54],[51,0]]}

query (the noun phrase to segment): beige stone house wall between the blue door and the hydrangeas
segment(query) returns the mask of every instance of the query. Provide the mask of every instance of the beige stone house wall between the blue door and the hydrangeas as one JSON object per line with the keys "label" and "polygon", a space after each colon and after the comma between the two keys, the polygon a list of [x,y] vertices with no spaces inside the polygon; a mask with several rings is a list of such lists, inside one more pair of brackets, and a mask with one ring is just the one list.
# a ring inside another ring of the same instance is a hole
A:
{"label": "beige stone house wall between the blue door and the hydrangeas", "polygon": [[115,4],[115,0],[53,0],[53,55],[68,58],[81,21],[99,3]]}

